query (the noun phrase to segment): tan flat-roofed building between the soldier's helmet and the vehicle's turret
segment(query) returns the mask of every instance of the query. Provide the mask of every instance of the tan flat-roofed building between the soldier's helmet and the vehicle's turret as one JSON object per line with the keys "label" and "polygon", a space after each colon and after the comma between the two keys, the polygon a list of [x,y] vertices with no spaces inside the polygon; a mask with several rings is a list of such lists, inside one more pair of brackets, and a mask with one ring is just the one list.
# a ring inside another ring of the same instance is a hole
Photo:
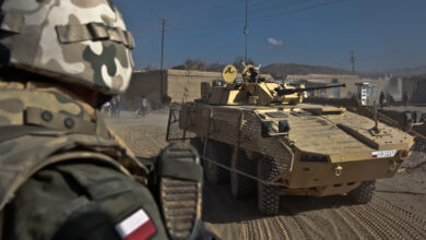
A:
{"label": "tan flat-roofed building between the soldier's helmet and the vehicle's turret", "polygon": [[[269,74],[262,76],[272,79]],[[201,97],[201,82],[213,80],[222,80],[222,73],[174,69],[135,71],[127,93],[122,96],[122,105],[125,108],[134,109],[142,96],[154,107],[162,105],[166,97],[170,97],[171,101],[191,101]]]}

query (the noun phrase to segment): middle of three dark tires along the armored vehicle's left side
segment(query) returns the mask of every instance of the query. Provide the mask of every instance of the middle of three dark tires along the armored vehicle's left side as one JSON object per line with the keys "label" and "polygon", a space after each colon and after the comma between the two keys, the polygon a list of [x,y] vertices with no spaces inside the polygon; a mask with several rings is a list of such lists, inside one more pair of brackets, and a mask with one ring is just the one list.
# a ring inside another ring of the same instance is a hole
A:
{"label": "middle of three dark tires along the armored vehicle's left side", "polygon": [[[247,157],[245,151],[238,151],[236,158],[236,169],[251,176],[256,176],[253,160]],[[256,181],[237,172],[230,172],[230,192],[235,199],[244,199],[255,194]]]}

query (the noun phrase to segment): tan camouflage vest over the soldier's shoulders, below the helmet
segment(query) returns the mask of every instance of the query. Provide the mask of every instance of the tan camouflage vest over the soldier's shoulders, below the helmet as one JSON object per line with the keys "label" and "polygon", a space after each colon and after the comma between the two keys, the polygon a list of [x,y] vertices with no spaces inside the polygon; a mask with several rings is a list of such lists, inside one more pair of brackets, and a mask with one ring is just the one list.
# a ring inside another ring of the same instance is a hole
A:
{"label": "tan camouflage vest over the soldier's shoulders, below the helmet", "polygon": [[142,180],[147,175],[110,136],[98,112],[93,119],[79,103],[56,93],[0,89],[0,212],[38,170],[82,159]]}

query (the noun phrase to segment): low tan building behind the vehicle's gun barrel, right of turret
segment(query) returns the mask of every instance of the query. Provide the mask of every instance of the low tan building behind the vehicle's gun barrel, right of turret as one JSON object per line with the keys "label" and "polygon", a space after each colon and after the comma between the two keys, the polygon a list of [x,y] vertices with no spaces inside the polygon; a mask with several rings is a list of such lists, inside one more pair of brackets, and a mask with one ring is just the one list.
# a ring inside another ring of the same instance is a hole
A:
{"label": "low tan building behind the vehicle's gun barrel, right of turret", "polygon": [[[307,74],[307,75],[288,75],[288,80],[295,83],[303,83],[306,87],[324,86],[331,84],[346,84],[346,87],[319,89],[311,92],[310,96],[329,97],[329,98],[351,98],[357,96],[358,85],[369,83],[368,105],[374,101],[379,103],[380,92],[387,93],[389,81],[386,79],[362,79],[358,75],[344,74]],[[398,83],[397,83],[398,86]]]}

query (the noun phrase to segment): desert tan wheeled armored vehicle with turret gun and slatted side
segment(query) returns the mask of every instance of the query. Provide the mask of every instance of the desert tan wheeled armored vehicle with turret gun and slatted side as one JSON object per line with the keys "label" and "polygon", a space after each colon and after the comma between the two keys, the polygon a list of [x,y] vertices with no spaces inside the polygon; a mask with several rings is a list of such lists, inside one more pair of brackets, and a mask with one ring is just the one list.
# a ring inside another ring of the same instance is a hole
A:
{"label": "desert tan wheeled armored vehicle with turret gun and slatted side", "polygon": [[257,191],[263,214],[277,213],[280,195],[347,194],[368,203],[375,180],[392,177],[414,144],[345,108],[303,104],[308,91],[342,85],[269,82],[256,67],[229,80],[236,70],[227,68],[226,81],[202,83],[201,99],[180,106],[179,127],[197,135],[208,180],[230,181],[235,197]]}

